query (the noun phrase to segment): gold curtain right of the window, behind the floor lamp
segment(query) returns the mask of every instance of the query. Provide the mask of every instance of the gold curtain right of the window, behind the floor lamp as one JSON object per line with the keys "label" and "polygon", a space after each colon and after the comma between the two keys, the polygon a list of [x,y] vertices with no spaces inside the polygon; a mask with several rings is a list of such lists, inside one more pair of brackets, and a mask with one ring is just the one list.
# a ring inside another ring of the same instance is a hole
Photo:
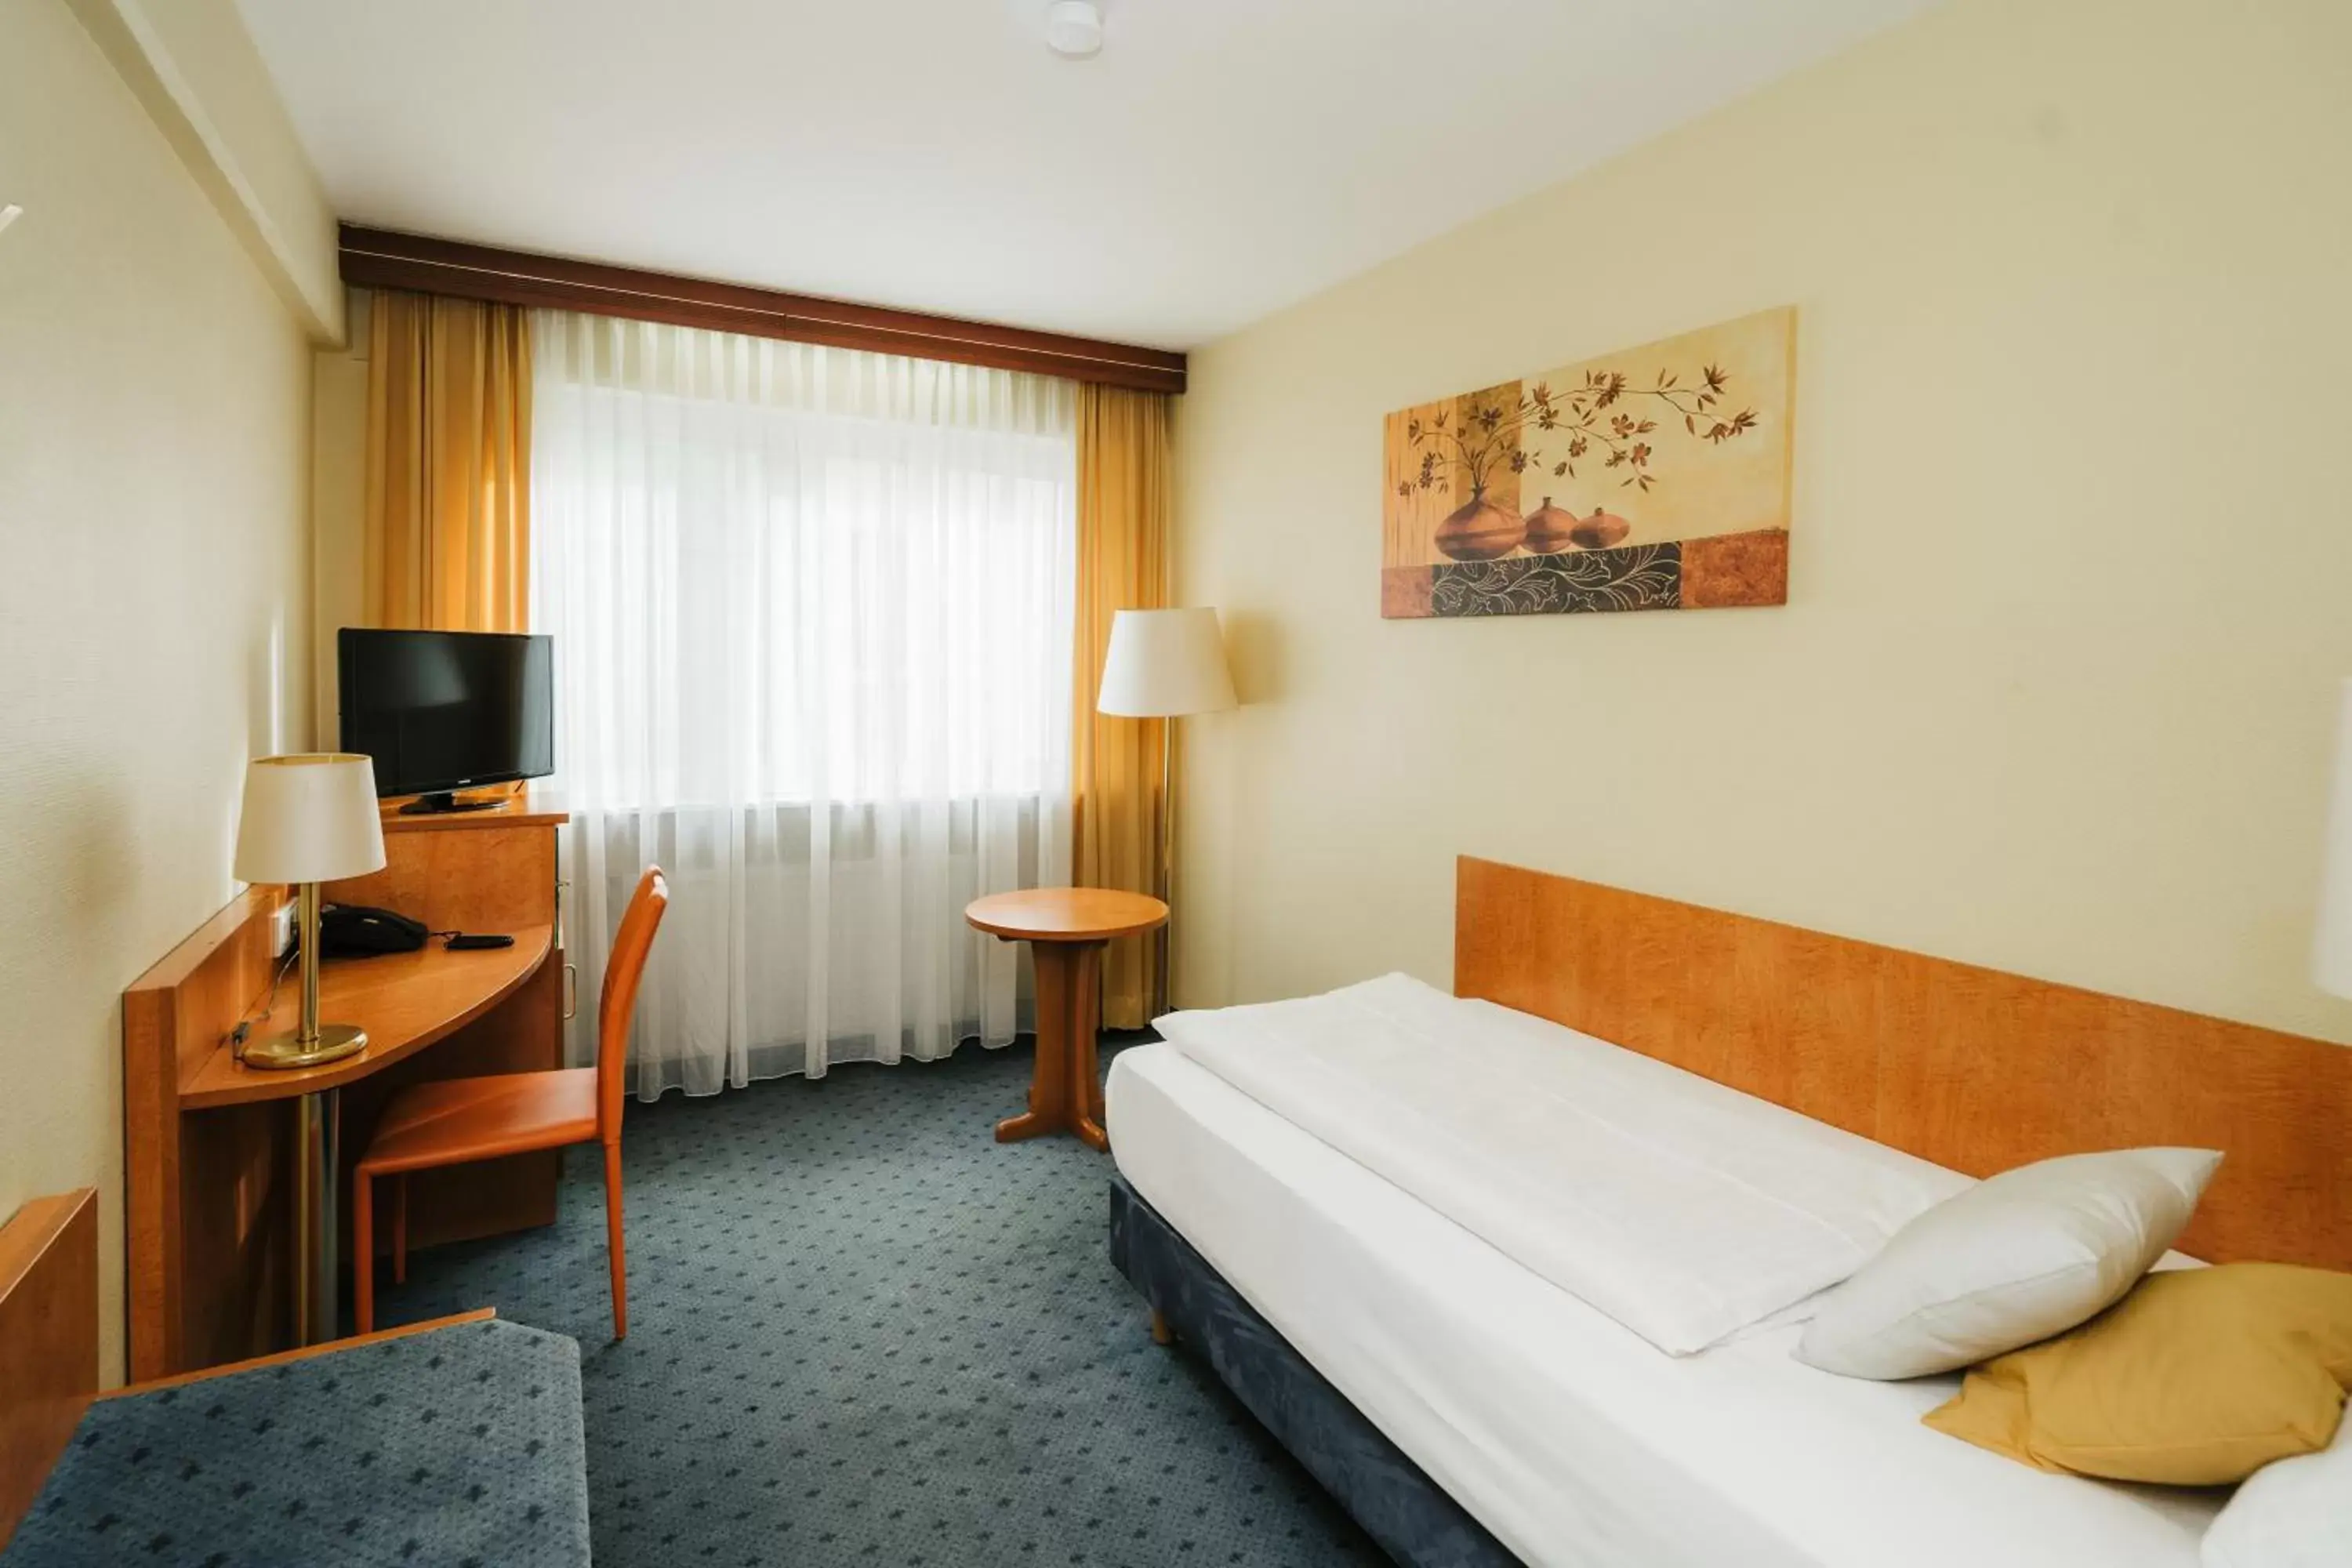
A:
{"label": "gold curtain right of the window, behind the floor lamp", "polygon": [[[1169,592],[1169,496],[1174,409],[1167,393],[1077,388],[1077,712],[1070,799],[1077,886],[1162,893],[1160,769],[1167,719],[1094,712],[1122,609],[1164,609]],[[1160,990],[1160,943],[1127,936],[1103,954],[1103,1023],[1150,1023]]]}

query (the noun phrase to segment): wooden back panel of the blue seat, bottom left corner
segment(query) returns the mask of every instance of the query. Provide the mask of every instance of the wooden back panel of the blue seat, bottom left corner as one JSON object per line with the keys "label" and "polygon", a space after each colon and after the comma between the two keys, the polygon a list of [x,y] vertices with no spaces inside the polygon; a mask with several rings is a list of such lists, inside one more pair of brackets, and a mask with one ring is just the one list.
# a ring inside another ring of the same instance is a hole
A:
{"label": "wooden back panel of the blue seat, bottom left corner", "polygon": [[0,1547],[99,1392],[99,1194],[0,1225]]}

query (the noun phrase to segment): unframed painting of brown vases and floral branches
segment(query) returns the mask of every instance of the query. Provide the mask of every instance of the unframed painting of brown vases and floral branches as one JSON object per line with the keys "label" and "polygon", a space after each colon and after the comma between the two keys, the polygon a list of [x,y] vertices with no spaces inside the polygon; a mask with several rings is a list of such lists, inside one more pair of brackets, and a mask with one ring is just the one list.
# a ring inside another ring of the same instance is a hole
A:
{"label": "unframed painting of brown vases and floral branches", "polygon": [[[1783,604],[1795,324],[1764,310],[1390,414],[1381,611]],[[1642,552],[1639,592],[1566,559],[1613,550]],[[1486,562],[1526,567],[1498,597],[1463,574]]]}

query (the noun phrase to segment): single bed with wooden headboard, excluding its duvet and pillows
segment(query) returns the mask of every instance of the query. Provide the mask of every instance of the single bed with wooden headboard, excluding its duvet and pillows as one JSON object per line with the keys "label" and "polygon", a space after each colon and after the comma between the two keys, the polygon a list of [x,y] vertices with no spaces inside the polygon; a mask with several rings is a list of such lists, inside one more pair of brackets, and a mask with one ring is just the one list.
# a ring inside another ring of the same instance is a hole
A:
{"label": "single bed with wooden headboard, excluding its duvet and pillows", "polygon": [[[1475,860],[1456,943],[1465,997],[1929,1166],[2223,1147],[2183,1246],[2352,1262],[2352,1051]],[[1171,1044],[1108,1117],[1115,1260],[1397,1561],[2187,1568],[2223,1502],[1940,1436],[1955,1378],[1818,1373],[1795,1314],[1663,1354]]]}

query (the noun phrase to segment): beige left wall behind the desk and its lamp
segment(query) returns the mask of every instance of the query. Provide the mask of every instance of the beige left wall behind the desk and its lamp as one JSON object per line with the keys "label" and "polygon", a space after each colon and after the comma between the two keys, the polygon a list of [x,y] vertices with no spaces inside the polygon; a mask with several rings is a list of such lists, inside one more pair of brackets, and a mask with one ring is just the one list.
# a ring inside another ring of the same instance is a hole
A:
{"label": "beige left wall behind the desk and its lamp", "polygon": [[118,999],[310,741],[310,348],[64,0],[0,7],[0,1213],[101,1187],[118,1378]]}

